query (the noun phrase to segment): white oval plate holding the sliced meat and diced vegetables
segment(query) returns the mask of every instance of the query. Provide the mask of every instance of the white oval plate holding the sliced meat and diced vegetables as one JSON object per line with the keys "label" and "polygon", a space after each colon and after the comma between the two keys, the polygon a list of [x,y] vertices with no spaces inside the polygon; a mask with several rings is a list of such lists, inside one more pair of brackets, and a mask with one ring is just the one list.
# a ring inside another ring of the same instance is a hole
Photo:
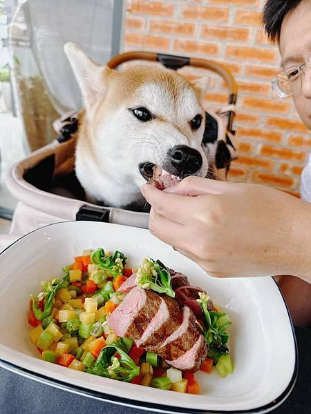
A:
{"label": "white oval plate holding the sliced meat and diced vegetables", "polygon": [[[180,270],[229,313],[234,374],[196,374],[200,395],[147,388],[70,370],[39,359],[27,322],[30,293],[62,275],[86,248],[121,250],[132,266],[143,257]],[[292,391],[296,339],[283,297],[270,277],[216,279],[148,230],[93,221],[52,224],[17,240],[0,255],[0,365],[33,380],[100,400],[162,413],[267,413]]]}

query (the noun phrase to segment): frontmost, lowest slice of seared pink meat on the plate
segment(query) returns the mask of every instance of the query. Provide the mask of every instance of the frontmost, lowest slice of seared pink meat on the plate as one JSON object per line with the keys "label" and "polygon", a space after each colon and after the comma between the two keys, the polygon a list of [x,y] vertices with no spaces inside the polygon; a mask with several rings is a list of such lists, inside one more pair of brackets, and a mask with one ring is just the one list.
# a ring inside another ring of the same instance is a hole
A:
{"label": "frontmost, lowest slice of seared pink meat on the plate", "polygon": [[166,362],[174,368],[178,368],[182,371],[195,372],[200,368],[206,355],[207,344],[205,342],[205,337],[200,334],[198,340],[195,342],[194,346],[189,349],[189,351],[171,361],[166,360]]}

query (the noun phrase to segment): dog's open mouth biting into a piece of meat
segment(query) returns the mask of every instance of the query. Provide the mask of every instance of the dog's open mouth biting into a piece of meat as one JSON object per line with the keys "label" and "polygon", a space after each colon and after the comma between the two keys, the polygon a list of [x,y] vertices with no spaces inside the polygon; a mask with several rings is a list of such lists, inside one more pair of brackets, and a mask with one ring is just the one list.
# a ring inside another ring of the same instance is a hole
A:
{"label": "dog's open mouth biting into a piece of meat", "polygon": [[152,162],[144,162],[138,166],[140,174],[144,179],[159,190],[176,186],[181,181],[181,177],[173,175]]}

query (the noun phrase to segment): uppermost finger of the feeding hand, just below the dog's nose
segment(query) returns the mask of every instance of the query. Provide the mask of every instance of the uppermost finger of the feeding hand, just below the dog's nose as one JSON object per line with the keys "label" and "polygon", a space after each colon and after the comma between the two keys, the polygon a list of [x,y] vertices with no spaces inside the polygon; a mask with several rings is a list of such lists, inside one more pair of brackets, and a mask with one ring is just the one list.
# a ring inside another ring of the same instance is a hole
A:
{"label": "uppermost finger of the feeding hand, just below the dog's nose", "polygon": [[232,184],[191,175],[182,179],[176,186],[166,188],[164,193],[189,195],[194,197],[201,194],[222,194],[230,189]]}

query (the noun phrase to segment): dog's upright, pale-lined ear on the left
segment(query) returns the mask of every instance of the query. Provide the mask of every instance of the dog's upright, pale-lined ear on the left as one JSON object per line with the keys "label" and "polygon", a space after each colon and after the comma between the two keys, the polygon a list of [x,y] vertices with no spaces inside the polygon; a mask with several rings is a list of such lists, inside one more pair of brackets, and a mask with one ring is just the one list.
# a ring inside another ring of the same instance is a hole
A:
{"label": "dog's upright, pale-lined ear on the left", "polygon": [[110,72],[111,69],[95,63],[74,43],[66,43],[64,52],[73,68],[86,107],[89,108],[98,97],[104,97],[106,93],[104,78],[106,72]]}

